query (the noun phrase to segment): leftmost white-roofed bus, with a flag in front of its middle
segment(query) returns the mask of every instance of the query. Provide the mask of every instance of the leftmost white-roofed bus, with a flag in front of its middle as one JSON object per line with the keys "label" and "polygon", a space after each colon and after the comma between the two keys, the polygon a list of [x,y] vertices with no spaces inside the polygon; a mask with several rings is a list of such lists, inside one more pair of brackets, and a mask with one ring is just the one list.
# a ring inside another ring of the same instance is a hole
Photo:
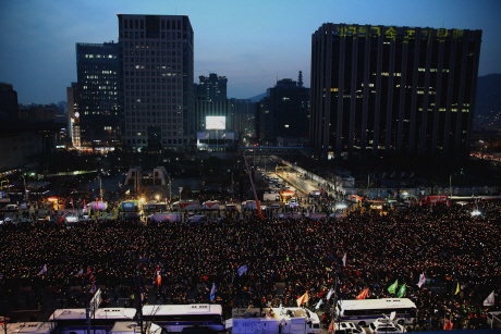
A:
{"label": "leftmost white-roofed bus, with a flag in front of its middle", "polygon": [[[96,334],[108,334],[117,321],[129,321],[135,316],[134,308],[98,308],[90,318],[90,330]],[[56,323],[57,334],[87,334],[85,309],[57,309],[49,321]]]}

